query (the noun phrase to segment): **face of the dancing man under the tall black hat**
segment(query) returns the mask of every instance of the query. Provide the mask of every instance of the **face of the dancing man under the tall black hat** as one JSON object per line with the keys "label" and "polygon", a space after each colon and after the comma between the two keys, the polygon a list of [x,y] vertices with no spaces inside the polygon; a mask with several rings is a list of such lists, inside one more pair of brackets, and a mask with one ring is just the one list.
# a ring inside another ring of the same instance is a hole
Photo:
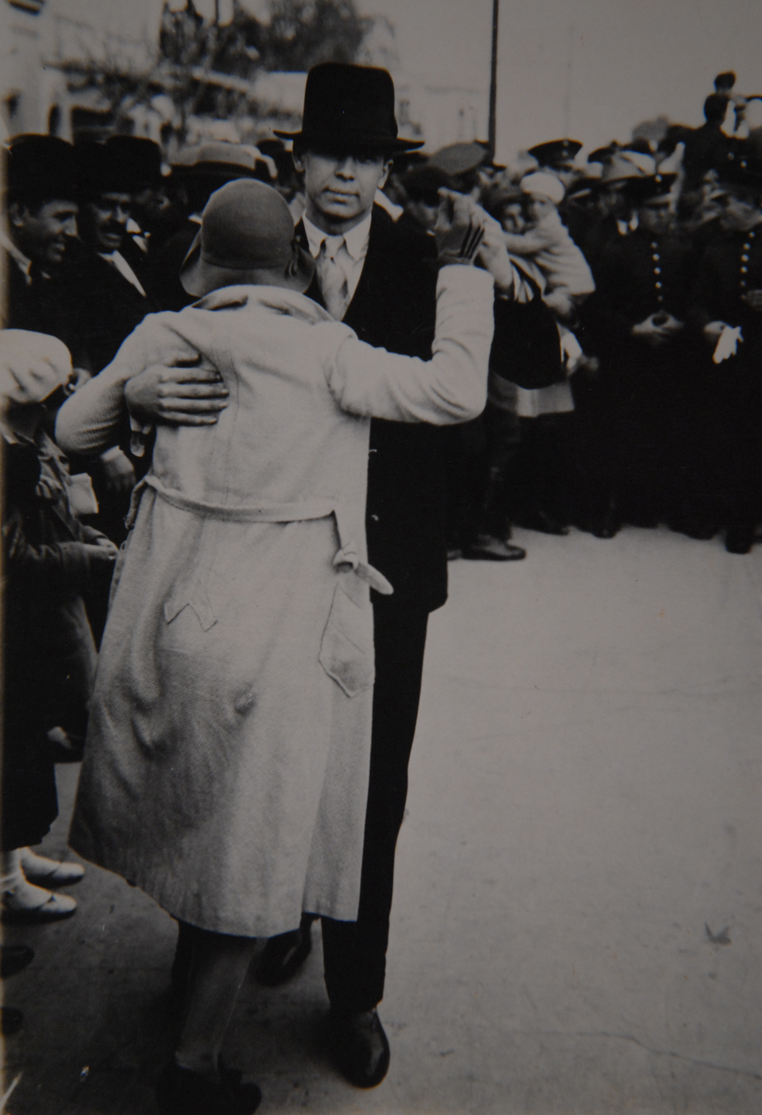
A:
{"label": "face of the dancing man under the tall black hat", "polygon": [[369,151],[307,151],[295,155],[293,165],[305,175],[307,216],[326,232],[340,232],[370,211],[392,163]]}

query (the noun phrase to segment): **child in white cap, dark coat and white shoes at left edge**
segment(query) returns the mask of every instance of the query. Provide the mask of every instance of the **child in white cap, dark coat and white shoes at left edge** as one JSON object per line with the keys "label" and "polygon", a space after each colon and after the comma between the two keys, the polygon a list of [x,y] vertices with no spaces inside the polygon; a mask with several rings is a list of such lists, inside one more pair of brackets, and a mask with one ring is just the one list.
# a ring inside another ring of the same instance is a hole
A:
{"label": "child in white cap, dark coat and white shoes at left edge", "polygon": [[80,592],[91,576],[108,575],[116,558],[114,544],[73,514],[68,466],[46,430],[70,376],[61,341],[25,330],[0,333],[3,922],[69,917],[75,900],[49,888],[85,873],[30,847],[58,813],[48,733],[73,720],[84,728],[93,685],[95,646]]}

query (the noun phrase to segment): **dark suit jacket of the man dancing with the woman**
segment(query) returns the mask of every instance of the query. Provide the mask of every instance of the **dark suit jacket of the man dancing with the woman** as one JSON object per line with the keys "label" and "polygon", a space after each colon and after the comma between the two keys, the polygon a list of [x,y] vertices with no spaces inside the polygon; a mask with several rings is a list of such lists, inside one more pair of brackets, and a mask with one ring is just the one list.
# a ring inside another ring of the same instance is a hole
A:
{"label": "dark suit jacket of the man dancing with the woman", "polygon": [[[303,225],[298,234],[307,246]],[[436,323],[432,237],[398,229],[375,205],[368,254],[344,317],[360,340],[430,359]],[[307,291],[324,304],[317,279]],[[442,432],[426,424],[370,423],[368,559],[394,585],[392,601],[427,611],[447,598]]]}

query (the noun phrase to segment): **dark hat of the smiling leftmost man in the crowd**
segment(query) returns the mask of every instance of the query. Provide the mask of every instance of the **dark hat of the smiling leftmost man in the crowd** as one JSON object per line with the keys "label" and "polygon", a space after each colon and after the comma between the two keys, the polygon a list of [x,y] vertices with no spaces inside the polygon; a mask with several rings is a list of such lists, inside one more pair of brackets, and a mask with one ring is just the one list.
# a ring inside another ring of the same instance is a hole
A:
{"label": "dark hat of the smiling leftmost man in the crowd", "polygon": [[57,136],[17,136],[6,151],[9,201],[76,201],[74,147]]}

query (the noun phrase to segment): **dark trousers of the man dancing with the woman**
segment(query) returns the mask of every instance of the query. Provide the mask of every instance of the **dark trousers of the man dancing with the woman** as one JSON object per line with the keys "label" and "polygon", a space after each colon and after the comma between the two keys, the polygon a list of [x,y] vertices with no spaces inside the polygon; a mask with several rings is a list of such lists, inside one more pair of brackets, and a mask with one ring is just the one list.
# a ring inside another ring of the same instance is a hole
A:
{"label": "dark trousers of the man dancing with the woman", "polygon": [[376,686],[359,911],[356,922],[322,919],[328,998],[347,1014],[372,1010],[384,995],[394,853],[405,814],[427,621],[427,612],[394,597],[374,603]]}

